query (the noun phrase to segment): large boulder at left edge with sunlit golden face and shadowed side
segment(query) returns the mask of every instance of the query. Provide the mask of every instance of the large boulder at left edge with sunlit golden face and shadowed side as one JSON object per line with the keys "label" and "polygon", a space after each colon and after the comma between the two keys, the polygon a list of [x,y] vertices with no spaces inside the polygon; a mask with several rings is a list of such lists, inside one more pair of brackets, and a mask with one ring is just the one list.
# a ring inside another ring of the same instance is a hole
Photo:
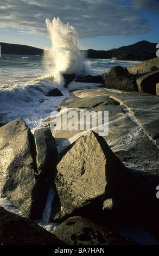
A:
{"label": "large boulder at left edge with sunlit golden face and shadowed side", "polygon": [[34,136],[22,118],[0,130],[1,197],[8,197],[26,217],[41,218],[48,185],[37,175]]}

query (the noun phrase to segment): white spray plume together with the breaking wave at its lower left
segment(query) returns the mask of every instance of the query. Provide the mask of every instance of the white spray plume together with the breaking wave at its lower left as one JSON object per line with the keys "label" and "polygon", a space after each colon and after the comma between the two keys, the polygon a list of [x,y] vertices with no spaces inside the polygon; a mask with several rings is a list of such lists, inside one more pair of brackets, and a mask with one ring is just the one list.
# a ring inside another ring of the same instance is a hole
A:
{"label": "white spray plume together with the breaking wave at its lower left", "polygon": [[78,48],[78,33],[73,26],[63,24],[59,17],[54,17],[52,22],[46,19],[46,26],[52,47],[44,50],[43,65],[50,72],[30,82],[43,92],[55,87],[63,89],[65,81],[62,75],[85,76],[90,74],[91,69],[90,62]]}

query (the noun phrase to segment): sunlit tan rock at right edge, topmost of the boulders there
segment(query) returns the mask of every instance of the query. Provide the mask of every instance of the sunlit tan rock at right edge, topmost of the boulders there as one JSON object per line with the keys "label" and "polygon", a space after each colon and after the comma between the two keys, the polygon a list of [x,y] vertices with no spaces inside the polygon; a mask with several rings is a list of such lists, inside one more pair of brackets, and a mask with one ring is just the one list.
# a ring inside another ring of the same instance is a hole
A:
{"label": "sunlit tan rock at right edge, topmost of the boulders there", "polygon": [[159,57],[146,60],[138,65],[129,66],[127,70],[130,74],[139,75],[159,69]]}

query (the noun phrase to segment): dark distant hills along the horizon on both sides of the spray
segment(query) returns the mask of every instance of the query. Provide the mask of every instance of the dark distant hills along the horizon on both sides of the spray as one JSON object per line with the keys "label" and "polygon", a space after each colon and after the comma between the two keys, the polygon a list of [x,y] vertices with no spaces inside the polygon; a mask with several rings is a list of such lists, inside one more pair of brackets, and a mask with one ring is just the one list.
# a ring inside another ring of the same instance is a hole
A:
{"label": "dark distant hills along the horizon on both sides of the spray", "polygon": [[[18,55],[42,55],[43,49],[27,46],[8,44],[0,42],[1,54],[18,54]],[[156,45],[148,41],[139,41],[136,44],[122,46],[108,51],[89,49],[84,52],[87,58],[94,59],[120,59],[120,60],[138,60],[144,61],[156,58]]]}

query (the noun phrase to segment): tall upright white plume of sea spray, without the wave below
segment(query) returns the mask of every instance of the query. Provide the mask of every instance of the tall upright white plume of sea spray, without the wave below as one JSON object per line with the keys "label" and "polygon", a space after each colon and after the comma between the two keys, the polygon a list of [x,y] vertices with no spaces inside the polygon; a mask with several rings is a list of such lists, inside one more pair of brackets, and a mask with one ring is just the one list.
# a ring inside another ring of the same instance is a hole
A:
{"label": "tall upright white plume of sea spray, without the wave below", "polygon": [[43,61],[52,68],[52,75],[56,76],[56,79],[62,74],[85,75],[88,64],[78,49],[78,33],[74,27],[69,23],[63,24],[59,17],[54,17],[52,22],[46,19],[46,26],[52,47],[49,51],[44,51]]}

